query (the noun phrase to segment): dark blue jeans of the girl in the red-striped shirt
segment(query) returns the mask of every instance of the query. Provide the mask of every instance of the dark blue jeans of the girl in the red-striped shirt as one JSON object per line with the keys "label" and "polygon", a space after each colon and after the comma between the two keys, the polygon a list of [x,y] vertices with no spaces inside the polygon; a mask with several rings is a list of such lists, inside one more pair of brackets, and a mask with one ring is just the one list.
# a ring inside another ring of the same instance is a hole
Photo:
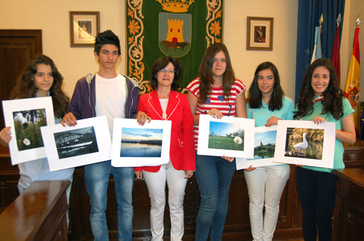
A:
{"label": "dark blue jeans of the girl in the red-striped shirt", "polygon": [[196,155],[196,181],[201,195],[196,241],[207,240],[209,232],[211,241],[221,240],[235,169],[235,159],[230,163],[220,156]]}

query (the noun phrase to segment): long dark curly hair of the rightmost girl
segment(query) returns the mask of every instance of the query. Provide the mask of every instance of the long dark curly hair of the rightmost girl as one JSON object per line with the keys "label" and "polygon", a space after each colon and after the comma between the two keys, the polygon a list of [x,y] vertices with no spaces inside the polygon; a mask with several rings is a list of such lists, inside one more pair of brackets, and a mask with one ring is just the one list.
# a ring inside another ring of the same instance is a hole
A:
{"label": "long dark curly hair of the rightmost girl", "polygon": [[305,72],[303,77],[302,86],[300,88],[300,94],[298,95],[298,103],[296,106],[296,111],[294,112],[294,119],[300,119],[306,114],[311,114],[313,112],[313,97],[315,97],[315,91],[311,85],[312,74],[315,68],[323,66],[328,69],[330,73],[330,82],[328,87],[323,92],[324,100],[323,112],[321,114],[332,114],[335,119],[340,119],[343,117],[343,97],[344,92],[340,89],[338,85],[338,77],[335,73],[335,68],[330,60],[326,58],[319,58],[315,60]]}

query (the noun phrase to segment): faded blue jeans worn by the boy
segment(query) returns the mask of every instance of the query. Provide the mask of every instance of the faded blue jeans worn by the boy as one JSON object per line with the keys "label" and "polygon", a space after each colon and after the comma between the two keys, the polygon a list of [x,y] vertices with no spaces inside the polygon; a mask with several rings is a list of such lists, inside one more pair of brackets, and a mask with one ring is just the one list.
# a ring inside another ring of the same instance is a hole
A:
{"label": "faded blue jeans worn by the boy", "polygon": [[133,168],[114,168],[111,166],[111,161],[85,166],[86,189],[91,203],[92,234],[96,241],[108,240],[105,210],[110,174],[113,174],[115,180],[115,195],[118,204],[118,240],[131,240],[133,234]]}

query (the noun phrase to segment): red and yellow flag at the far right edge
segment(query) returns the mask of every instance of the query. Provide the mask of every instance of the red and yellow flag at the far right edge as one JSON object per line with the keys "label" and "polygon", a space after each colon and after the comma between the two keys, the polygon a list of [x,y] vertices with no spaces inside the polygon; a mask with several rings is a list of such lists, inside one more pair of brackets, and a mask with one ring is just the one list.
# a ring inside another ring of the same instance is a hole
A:
{"label": "red and yellow flag at the far right edge", "polygon": [[348,76],[346,77],[344,94],[350,101],[354,112],[354,124],[357,134],[360,133],[360,53],[359,53],[359,27],[355,29],[353,52],[350,57]]}

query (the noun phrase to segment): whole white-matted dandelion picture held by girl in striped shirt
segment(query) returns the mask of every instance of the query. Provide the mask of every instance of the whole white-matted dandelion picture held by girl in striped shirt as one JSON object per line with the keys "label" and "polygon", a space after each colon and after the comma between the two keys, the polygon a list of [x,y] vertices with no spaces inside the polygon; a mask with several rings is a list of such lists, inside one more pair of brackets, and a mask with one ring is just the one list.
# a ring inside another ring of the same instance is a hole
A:
{"label": "whole white-matted dandelion picture held by girl in striped shirt", "polygon": [[253,158],[254,119],[200,115],[197,154]]}

